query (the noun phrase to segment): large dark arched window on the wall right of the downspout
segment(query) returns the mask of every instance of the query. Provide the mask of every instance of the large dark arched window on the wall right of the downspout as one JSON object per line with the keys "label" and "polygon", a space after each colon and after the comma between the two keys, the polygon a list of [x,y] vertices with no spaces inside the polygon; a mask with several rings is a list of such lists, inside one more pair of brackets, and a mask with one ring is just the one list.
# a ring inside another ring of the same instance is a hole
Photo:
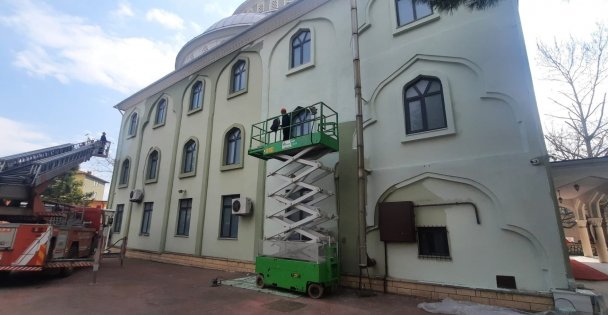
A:
{"label": "large dark arched window on the wall right of the downspout", "polygon": [[447,128],[441,81],[420,77],[404,88],[405,132],[414,134]]}

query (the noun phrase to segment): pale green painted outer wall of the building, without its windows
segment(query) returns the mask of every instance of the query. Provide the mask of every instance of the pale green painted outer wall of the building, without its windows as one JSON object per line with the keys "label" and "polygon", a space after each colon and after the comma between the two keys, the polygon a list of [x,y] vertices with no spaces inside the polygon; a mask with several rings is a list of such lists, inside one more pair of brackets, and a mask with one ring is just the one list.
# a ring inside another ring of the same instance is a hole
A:
{"label": "pale green painted outer wall of the building, without its windows", "polygon": [[[389,276],[493,289],[495,276],[504,274],[515,275],[523,290],[567,287],[549,179],[544,166],[529,163],[546,155],[546,150],[517,2],[504,1],[483,12],[434,15],[424,23],[414,23],[416,27],[400,29],[394,25],[391,1],[360,0],[358,4],[366,169],[370,171],[368,227],[377,224],[377,205],[385,200],[418,204],[470,201],[478,205],[482,222],[477,225],[471,213],[460,208],[418,211],[417,224],[448,227],[453,259],[421,260],[415,245],[390,245]],[[342,270],[358,274],[357,201],[353,198],[357,193],[355,100],[348,9],[346,0],[330,1],[167,88],[164,93],[170,97],[171,110],[164,127],[146,125],[143,134],[124,138],[132,110],[144,115],[161,94],[125,113],[118,158],[131,157],[137,174],[132,171],[128,188],[113,184],[112,205],[125,203],[125,222],[132,214],[131,248],[252,261],[263,232],[268,235],[272,230],[272,226],[262,226],[264,189],[275,184],[264,179],[272,163],[266,169],[264,162],[247,156],[244,168],[221,171],[224,134],[232,124],[241,124],[246,150],[252,123],[277,115],[281,107],[290,110],[322,101],[338,111],[341,122],[340,153],[325,159],[334,166],[339,156],[337,180],[323,183],[323,188],[335,189],[337,194],[324,206],[340,216]],[[312,31],[313,62],[290,70],[289,42],[303,28]],[[240,57],[249,60],[249,88],[245,94],[228,98],[229,69]],[[199,75],[206,80],[204,110],[186,115],[180,106],[187,106],[188,89]],[[442,81],[448,128],[411,137],[405,135],[403,87],[419,75]],[[142,125],[140,121],[140,128]],[[198,139],[200,148],[197,174],[180,179],[181,152],[190,137]],[[145,155],[152,146],[162,149],[163,179],[143,185]],[[120,164],[117,166],[116,172]],[[146,201],[155,202],[150,237],[138,235],[143,205],[128,202],[128,193],[141,185]],[[180,189],[186,194],[179,194]],[[254,202],[254,215],[240,219],[237,240],[218,239],[221,196],[228,194],[248,196]],[[190,236],[175,238],[178,199],[184,197],[194,201]],[[274,207],[269,202],[265,206]],[[123,234],[125,230],[123,226]],[[166,237],[161,240],[163,230]],[[379,262],[371,274],[383,276],[384,244],[377,232],[368,234],[367,245],[370,256]]]}

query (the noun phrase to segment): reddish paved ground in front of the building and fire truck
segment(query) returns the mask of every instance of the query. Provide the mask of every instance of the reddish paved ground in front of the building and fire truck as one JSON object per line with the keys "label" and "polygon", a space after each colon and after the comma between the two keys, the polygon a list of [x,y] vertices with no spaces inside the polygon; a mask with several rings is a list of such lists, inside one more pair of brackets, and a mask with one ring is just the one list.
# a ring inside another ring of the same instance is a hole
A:
{"label": "reddish paved ground in front of the building and fire truck", "polygon": [[97,284],[83,269],[67,278],[40,274],[0,280],[1,314],[429,314],[423,300],[390,294],[358,297],[341,289],[325,298],[286,298],[231,286],[212,287],[214,278],[243,273],[128,259],[124,268],[106,260]]}

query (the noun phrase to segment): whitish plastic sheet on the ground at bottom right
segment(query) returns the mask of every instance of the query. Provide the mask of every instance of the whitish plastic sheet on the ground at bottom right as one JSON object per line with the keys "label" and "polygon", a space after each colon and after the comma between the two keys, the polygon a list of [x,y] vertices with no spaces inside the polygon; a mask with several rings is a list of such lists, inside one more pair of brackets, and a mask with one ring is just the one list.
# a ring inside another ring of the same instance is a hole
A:
{"label": "whitish plastic sheet on the ground at bottom right", "polygon": [[523,313],[509,308],[477,304],[473,302],[454,301],[445,298],[441,302],[420,303],[421,308],[429,313],[454,315],[522,315]]}

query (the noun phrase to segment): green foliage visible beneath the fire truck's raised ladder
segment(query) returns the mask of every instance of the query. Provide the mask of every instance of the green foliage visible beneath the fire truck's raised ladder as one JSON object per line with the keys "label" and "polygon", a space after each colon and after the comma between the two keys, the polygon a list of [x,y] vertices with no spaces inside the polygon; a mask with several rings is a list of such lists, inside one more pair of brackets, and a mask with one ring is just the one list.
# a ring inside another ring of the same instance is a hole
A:
{"label": "green foliage visible beneath the fire truck's raised ladder", "polygon": [[82,191],[82,181],[76,180],[75,171],[57,176],[42,193],[44,201],[57,202],[74,206],[87,206],[93,193]]}

